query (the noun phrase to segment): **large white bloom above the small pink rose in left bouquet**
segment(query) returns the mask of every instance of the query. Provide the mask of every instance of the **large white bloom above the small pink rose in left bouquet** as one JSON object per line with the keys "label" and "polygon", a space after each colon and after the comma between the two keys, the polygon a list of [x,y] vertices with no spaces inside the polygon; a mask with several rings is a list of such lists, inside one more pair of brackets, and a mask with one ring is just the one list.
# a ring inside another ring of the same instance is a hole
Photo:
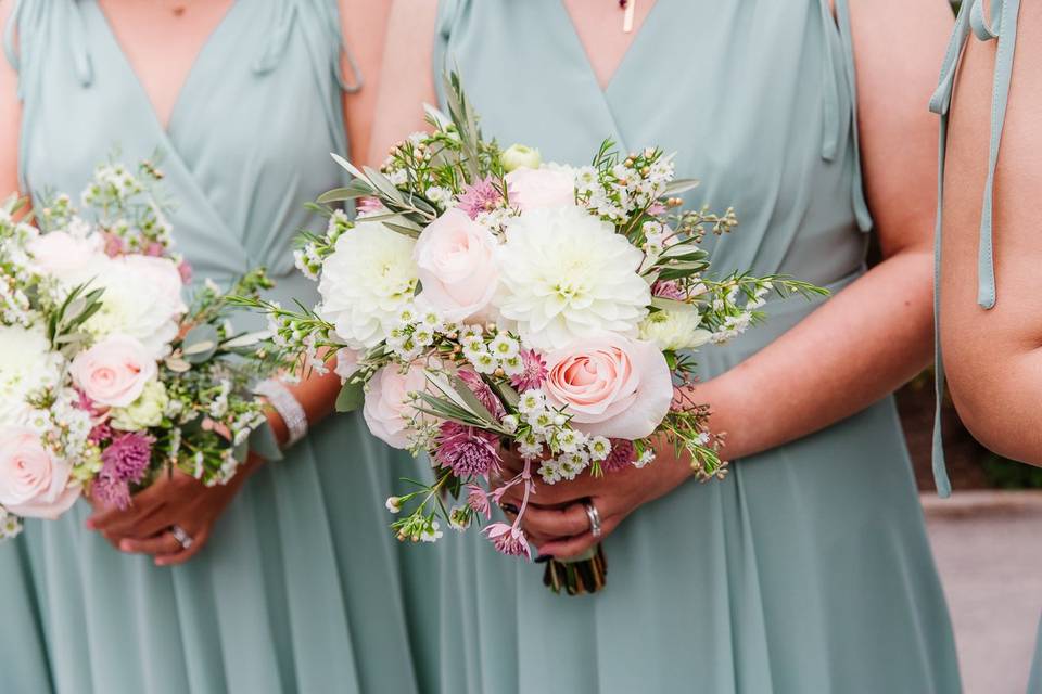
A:
{"label": "large white bloom above the small pink rose in left bouquet", "polygon": [[129,255],[94,264],[91,287],[103,288],[101,310],[85,327],[91,335],[129,335],[155,358],[165,357],[188,311],[177,264],[168,258]]}

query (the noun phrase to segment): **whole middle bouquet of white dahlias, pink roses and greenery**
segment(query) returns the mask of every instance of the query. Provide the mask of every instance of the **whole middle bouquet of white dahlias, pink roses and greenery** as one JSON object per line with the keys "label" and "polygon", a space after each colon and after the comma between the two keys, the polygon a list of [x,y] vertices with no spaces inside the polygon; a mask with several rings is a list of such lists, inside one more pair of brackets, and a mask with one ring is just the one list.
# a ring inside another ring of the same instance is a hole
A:
{"label": "whole middle bouquet of white dahlias, pink roses and greenery", "polygon": [[[644,466],[660,445],[686,451],[702,479],[723,476],[708,408],[679,390],[695,378],[690,350],[757,323],[772,292],[822,291],[712,277],[700,243],[735,215],[682,210],[696,182],[677,180],[661,150],[605,142],[589,166],[544,164],[483,139],[455,76],[446,93],[449,115],[429,107],[432,132],[398,143],[381,170],[336,157],[355,178],[318,203],[359,200],[360,213],[332,211],[297,254],[321,304],[245,301],[269,314],[285,354],[319,369],[338,356],[341,410],[361,407],[376,436],[430,454],[433,484],[387,500],[398,538],[490,520],[491,501],[521,485],[517,518],[484,532],[531,556],[521,519],[536,476]],[[492,488],[504,450],[523,471]],[[448,507],[449,494],[466,502]],[[549,563],[547,583],[599,588],[602,554],[582,560]]]}

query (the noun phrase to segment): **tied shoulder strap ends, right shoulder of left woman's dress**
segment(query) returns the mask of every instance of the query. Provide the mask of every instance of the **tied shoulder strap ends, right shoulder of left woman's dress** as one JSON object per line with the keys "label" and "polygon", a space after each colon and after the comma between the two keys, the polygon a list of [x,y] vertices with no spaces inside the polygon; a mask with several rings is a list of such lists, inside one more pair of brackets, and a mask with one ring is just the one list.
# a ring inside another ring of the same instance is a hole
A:
{"label": "tied shoulder strap ends, right shoulder of left woman's dress", "polygon": [[[335,0],[280,0],[277,2],[268,40],[265,42],[260,55],[257,56],[254,63],[254,70],[263,75],[278,67],[282,57],[285,55],[290,36],[293,31],[293,25],[297,20],[297,13],[301,11],[309,11],[318,15],[321,21],[322,28],[330,39],[329,62],[330,68],[336,78],[336,83],[347,93],[358,92],[364,83],[361,68],[351,47],[347,46],[347,42],[344,40],[340,23],[340,11]],[[347,81],[344,77],[340,62],[341,55],[347,60],[347,66],[351,69],[351,81]]]}

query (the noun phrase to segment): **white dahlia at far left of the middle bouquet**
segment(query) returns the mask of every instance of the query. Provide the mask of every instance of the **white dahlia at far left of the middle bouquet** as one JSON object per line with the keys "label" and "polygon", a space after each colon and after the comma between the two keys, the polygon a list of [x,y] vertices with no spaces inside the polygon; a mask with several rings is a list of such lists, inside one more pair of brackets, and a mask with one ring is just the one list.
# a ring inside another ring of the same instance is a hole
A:
{"label": "white dahlia at far left of the middle bouquet", "polygon": [[359,222],[322,262],[318,313],[352,349],[380,344],[416,293],[416,242],[380,222]]}

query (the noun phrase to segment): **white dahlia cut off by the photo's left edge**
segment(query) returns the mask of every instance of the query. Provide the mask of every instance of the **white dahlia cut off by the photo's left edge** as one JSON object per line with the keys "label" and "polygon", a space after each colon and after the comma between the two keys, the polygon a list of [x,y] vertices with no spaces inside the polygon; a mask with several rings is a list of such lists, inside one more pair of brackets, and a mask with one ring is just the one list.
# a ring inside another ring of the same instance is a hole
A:
{"label": "white dahlia cut off by the photo's left edge", "polygon": [[26,397],[56,385],[61,365],[42,327],[0,325],[0,425],[25,424]]}

